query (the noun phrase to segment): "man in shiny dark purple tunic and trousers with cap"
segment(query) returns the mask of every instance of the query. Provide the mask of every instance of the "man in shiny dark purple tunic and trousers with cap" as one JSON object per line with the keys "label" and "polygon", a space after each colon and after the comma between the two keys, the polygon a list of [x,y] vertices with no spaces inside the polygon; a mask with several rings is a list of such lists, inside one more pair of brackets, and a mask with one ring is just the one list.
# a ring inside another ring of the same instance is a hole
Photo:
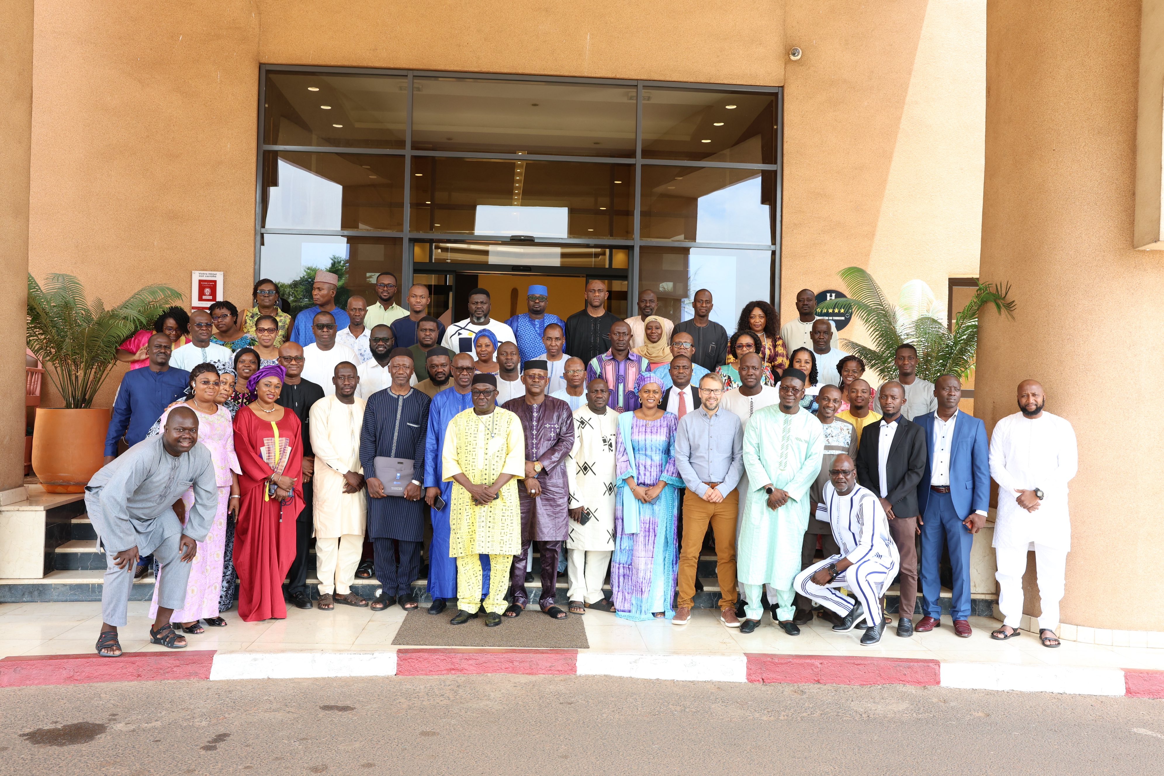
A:
{"label": "man in shiny dark purple tunic and trousers with cap", "polygon": [[558,558],[569,532],[569,478],[566,458],[574,448],[574,414],[561,399],[546,396],[549,383],[545,359],[523,364],[525,396],[510,399],[503,406],[521,421],[525,434],[525,479],[518,487],[521,503],[521,553],[513,562],[513,604],[505,610],[517,617],[530,601],[525,591],[526,551],[538,542],[541,556],[541,611],[555,620],[566,612],[555,606]]}

